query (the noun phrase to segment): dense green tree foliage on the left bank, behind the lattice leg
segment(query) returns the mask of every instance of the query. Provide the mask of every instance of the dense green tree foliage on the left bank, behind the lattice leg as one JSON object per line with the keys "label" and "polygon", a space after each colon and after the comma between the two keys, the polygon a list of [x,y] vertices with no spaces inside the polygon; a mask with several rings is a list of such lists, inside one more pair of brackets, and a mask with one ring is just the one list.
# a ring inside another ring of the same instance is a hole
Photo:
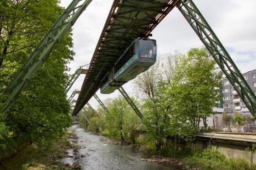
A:
{"label": "dense green tree foliage on the left bank, behind the lattice leg", "polygon": [[[42,37],[63,12],[58,0],[2,0],[0,2],[0,92],[11,82]],[[73,60],[71,31],[52,51],[17,101],[0,115],[0,150],[24,141],[47,143],[61,137],[71,124],[63,86]],[[6,96],[0,94],[0,107]]]}

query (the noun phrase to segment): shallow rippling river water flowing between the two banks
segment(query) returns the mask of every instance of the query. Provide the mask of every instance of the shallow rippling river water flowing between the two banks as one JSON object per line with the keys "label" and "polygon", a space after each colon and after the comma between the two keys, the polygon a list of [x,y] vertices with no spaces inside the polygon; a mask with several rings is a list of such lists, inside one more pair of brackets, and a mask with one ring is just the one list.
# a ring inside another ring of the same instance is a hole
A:
{"label": "shallow rippling river water flowing between the two banks", "polygon": [[64,158],[65,164],[72,165],[78,162],[85,170],[181,170],[176,165],[142,161],[141,159],[146,156],[137,149],[120,144],[108,144],[107,137],[85,132],[78,125],[73,125],[71,131],[76,133],[75,140],[81,148],[69,149],[68,154],[74,157]]}

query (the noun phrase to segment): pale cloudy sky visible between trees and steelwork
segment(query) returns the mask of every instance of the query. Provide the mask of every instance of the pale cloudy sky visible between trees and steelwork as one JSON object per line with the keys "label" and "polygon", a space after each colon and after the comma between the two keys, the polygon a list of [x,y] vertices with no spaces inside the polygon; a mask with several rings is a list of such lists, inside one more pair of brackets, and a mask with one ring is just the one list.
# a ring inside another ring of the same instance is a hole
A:
{"label": "pale cloudy sky visible between trees and steelwork", "polygon": [[[67,7],[72,0],[61,0],[61,6]],[[82,0],[84,1],[84,0]],[[194,0],[199,11],[216,33],[229,55],[242,73],[256,69],[256,0]],[[98,39],[110,11],[113,0],[92,0],[73,26],[74,60],[68,64],[70,74],[79,66],[89,64]],[[188,22],[177,8],[153,30],[153,39],[157,40],[158,55],[182,53],[191,48],[204,45],[194,33]],[[80,89],[85,75],[80,75],[68,92]],[[133,83],[126,83],[123,88],[134,96]],[[112,94],[101,94],[104,101],[119,95],[118,90]],[[74,97],[76,99],[78,94]],[[89,100],[93,108],[100,107],[93,97]]]}

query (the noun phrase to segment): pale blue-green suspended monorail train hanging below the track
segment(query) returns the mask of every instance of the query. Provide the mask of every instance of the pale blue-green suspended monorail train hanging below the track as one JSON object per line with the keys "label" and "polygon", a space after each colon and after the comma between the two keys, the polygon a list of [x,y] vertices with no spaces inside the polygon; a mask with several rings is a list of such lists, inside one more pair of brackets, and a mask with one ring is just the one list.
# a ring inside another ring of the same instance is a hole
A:
{"label": "pale blue-green suspended monorail train hanging below the track", "polygon": [[156,40],[137,38],[101,81],[101,93],[113,93],[120,86],[148,70],[156,62]]}

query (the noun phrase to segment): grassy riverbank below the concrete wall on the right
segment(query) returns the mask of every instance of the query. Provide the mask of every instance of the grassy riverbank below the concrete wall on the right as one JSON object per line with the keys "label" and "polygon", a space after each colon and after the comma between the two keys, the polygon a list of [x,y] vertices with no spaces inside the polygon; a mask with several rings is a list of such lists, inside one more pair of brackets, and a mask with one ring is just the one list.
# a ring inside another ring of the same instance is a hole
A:
{"label": "grassy riverbank below the concrete wall on the right", "polygon": [[[108,139],[107,141],[110,144],[124,145],[119,140]],[[227,158],[218,150],[210,147],[202,150],[185,148],[177,151],[168,147],[168,149],[165,148],[165,151],[158,153],[145,143],[127,145],[135,146],[137,150],[148,155],[147,158],[141,159],[142,161],[178,165],[183,170],[256,170],[256,164],[250,163],[245,159]],[[256,152],[255,147],[253,152]],[[251,154],[251,152],[248,152],[248,154]]]}

